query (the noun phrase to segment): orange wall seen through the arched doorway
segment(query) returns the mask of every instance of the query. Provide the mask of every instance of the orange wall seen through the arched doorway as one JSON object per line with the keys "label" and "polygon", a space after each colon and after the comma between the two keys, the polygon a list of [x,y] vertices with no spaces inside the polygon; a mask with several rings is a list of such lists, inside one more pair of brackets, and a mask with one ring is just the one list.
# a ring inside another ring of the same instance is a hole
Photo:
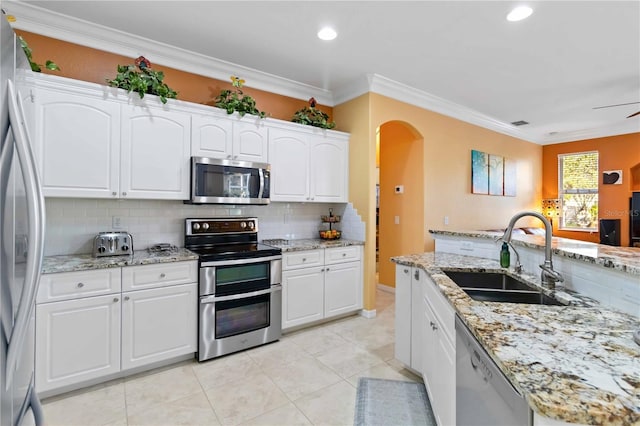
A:
{"label": "orange wall seen through the arched doorway", "polygon": [[[424,211],[424,142],[409,125],[392,121],[380,126],[380,238],[378,282],[395,286],[395,263],[389,259],[422,251]],[[402,185],[404,193],[396,194]],[[398,217],[399,224],[395,223]]]}

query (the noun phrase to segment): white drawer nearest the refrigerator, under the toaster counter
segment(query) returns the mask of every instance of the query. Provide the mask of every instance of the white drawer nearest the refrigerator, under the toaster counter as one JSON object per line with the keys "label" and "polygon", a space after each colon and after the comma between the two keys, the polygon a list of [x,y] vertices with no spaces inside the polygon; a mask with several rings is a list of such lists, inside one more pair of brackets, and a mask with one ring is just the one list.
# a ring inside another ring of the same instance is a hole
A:
{"label": "white drawer nearest the refrigerator, under the toaster counter", "polygon": [[37,303],[119,293],[120,285],[120,268],[44,274]]}

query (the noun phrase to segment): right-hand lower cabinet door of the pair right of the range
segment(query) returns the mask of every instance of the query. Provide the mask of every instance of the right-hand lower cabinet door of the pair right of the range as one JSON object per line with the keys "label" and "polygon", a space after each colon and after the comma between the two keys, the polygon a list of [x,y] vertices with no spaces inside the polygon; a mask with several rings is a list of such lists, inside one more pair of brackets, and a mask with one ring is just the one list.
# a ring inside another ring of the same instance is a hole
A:
{"label": "right-hand lower cabinet door of the pair right of the range", "polygon": [[325,318],[362,309],[362,269],[360,265],[360,262],[349,262],[325,268]]}

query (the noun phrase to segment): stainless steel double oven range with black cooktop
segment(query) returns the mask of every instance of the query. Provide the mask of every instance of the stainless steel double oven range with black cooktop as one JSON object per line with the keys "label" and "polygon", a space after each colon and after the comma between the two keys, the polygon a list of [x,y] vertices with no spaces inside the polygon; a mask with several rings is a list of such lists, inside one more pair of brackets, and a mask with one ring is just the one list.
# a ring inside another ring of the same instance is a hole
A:
{"label": "stainless steel double oven range with black cooktop", "polygon": [[185,247],[200,258],[198,360],[278,340],[282,251],[258,243],[258,219],[185,222]]}

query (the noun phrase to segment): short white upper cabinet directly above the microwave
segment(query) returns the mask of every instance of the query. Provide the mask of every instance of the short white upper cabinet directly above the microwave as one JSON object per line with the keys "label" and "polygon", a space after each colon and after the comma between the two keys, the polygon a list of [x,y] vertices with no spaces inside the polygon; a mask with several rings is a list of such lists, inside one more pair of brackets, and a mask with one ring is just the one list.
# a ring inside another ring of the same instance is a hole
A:
{"label": "short white upper cabinet directly above the microwave", "polygon": [[194,114],[192,134],[193,156],[268,162],[268,130],[263,119]]}

